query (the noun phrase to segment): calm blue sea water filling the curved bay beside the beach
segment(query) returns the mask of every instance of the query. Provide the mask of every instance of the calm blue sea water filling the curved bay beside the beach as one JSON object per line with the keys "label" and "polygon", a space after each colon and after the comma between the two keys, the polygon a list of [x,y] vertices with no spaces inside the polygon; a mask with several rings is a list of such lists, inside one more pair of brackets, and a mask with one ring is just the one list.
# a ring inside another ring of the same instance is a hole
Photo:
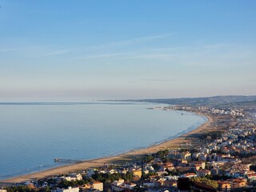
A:
{"label": "calm blue sea water filling the curved bay beside the beach", "polygon": [[0,180],[162,142],[206,118],[145,103],[0,104]]}

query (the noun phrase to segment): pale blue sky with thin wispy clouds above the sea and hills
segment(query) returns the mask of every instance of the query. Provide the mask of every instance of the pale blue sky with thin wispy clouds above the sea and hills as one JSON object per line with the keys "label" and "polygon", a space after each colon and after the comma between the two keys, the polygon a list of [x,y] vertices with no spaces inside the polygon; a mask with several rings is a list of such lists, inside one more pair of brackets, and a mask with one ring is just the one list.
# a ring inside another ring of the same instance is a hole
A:
{"label": "pale blue sky with thin wispy clouds above the sea and hills", "polygon": [[256,95],[254,0],[0,0],[0,102]]}

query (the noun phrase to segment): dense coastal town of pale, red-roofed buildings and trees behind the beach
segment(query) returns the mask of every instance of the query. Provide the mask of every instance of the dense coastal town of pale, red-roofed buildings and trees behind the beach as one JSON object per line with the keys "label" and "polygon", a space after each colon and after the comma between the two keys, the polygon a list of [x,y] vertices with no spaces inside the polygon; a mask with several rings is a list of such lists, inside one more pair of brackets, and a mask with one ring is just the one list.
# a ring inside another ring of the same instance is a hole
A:
{"label": "dense coastal town of pale, red-roofed buildings and trees behind the beach", "polygon": [[214,118],[216,130],[175,149],[142,154],[126,163],[113,163],[75,173],[54,175],[3,186],[12,191],[244,191],[256,187],[255,115],[242,108],[168,106],[161,110],[189,111]]}

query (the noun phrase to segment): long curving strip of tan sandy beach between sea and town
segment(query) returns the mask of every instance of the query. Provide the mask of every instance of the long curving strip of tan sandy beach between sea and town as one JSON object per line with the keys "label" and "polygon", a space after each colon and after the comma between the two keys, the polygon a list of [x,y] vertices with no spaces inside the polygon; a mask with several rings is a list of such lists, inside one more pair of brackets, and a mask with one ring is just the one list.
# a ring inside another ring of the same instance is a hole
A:
{"label": "long curving strip of tan sandy beach between sea and town", "polygon": [[206,118],[208,118],[208,121],[204,123],[202,126],[199,126],[198,128],[191,130],[186,134],[182,134],[178,138],[170,139],[169,141],[162,142],[161,144],[150,146],[142,150],[133,150],[125,154],[118,154],[117,156],[114,156],[114,157],[98,158],[98,159],[89,160],[89,161],[81,162],[77,164],[59,166],[50,170],[43,170],[40,172],[26,174],[26,175],[18,176],[15,178],[8,178],[0,182],[16,183],[16,182],[32,181],[40,178],[47,178],[53,175],[66,174],[66,173],[70,173],[78,170],[86,170],[87,168],[90,168],[90,167],[102,166],[104,165],[104,163],[112,164],[116,162],[128,162],[132,158],[138,157],[141,154],[149,154],[149,153],[157,152],[158,150],[166,150],[166,149],[171,150],[174,148],[178,148],[182,144],[190,143],[194,139],[198,138],[198,134],[200,133],[210,131],[210,130],[216,130],[216,128],[213,126],[214,117],[205,115],[205,114],[198,114],[198,115],[206,116]]}

